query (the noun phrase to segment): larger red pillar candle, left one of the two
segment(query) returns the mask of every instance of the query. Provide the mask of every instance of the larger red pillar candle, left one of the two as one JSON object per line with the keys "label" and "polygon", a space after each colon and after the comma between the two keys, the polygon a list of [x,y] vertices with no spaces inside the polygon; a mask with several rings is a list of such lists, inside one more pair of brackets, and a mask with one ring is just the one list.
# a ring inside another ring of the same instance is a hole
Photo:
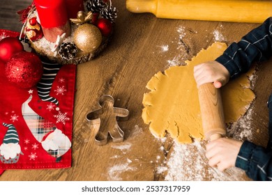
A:
{"label": "larger red pillar candle, left one of the two", "polygon": [[70,36],[70,22],[65,0],[34,0],[43,35],[50,42],[66,33]]}

